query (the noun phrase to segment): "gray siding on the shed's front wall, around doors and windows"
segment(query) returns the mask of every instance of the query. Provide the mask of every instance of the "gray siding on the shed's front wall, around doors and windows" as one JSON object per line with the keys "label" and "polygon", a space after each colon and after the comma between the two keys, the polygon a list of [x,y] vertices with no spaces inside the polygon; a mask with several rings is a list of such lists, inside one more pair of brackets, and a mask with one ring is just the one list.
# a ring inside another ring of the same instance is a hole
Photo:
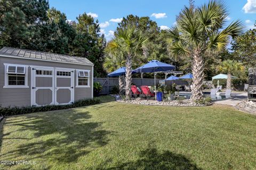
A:
{"label": "gray siding on the shed's front wall, around doors and windows", "polygon": [[[24,64],[28,66],[44,66],[71,69],[84,69],[90,71],[90,87],[74,88],[74,100],[92,98],[92,66],[83,66],[78,64],[57,63],[49,61],[36,61],[27,59],[14,59],[0,56],[0,104],[2,107],[8,106],[30,106],[31,104],[31,67],[28,68],[28,86],[29,88],[3,88],[4,86],[4,63]],[[74,76],[76,85],[76,72]]]}

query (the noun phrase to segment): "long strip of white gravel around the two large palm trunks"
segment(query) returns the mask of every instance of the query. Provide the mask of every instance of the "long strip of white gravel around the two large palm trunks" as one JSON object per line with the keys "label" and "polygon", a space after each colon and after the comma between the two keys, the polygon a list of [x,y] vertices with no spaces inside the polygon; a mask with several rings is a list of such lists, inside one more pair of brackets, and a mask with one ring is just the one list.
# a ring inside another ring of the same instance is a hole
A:
{"label": "long strip of white gravel around the two large palm trunks", "polygon": [[204,104],[195,103],[190,99],[185,99],[180,101],[179,100],[163,101],[163,102],[158,102],[155,100],[135,99],[135,100],[117,100],[117,102],[152,105],[152,106],[206,106]]}

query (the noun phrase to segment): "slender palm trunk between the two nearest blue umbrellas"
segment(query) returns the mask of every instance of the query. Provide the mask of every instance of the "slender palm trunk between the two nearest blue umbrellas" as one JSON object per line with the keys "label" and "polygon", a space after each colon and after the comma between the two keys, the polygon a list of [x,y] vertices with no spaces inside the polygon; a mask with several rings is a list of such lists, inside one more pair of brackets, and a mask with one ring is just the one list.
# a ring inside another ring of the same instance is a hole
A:
{"label": "slender palm trunk between the two nearest blue umbrellas", "polygon": [[131,85],[132,85],[132,58],[128,55],[126,58],[126,73],[125,73],[125,100],[131,98]]}

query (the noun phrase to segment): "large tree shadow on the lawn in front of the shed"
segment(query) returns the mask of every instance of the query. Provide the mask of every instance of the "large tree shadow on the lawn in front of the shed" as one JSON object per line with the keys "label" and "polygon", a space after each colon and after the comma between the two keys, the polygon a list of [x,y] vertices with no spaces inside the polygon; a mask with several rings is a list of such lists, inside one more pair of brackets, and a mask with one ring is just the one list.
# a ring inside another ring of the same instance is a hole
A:
{"label": "large tree shadow on the lawn in front of the shed", "polygon": [[[31,160],[40,158],[71,163],[92,149],[106,145],[106,135],[111,133],[100,128],[101,122],[93,122],[89,112],[76,109],[27,114],[20,119],[28,121],[6,121],[4,126],[18,126],[18,133],[33,132],[33,139],[13,147],[0,155],[2,158],[27,155]],[[13,137],[9,135],[3,134],[3,140]]]}

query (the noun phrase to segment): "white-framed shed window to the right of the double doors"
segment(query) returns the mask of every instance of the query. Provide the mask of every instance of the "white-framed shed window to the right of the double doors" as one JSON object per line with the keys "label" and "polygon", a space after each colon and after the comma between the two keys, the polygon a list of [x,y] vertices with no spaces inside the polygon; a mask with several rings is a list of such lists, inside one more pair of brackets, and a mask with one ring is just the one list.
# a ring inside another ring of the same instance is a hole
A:
{"label": "white-framed shed window to the right of the double doors", "polygon": [[76,87],[90,87],[90,70],[77,70]]}

